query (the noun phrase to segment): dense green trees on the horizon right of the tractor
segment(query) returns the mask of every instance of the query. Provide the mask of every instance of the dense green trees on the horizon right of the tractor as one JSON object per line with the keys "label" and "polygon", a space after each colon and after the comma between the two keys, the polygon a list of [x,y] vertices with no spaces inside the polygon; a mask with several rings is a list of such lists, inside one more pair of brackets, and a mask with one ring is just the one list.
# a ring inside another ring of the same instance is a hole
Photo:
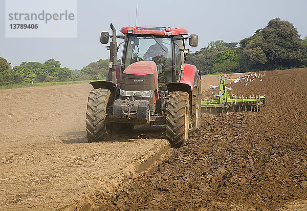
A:
{"label": "dense green trees on the horizon right of the tractor", "polygon": [[303,68],[307,67],[307,37],[301,39],[290,22],[275,18],[238,43],[211,41],[187,55],[186,63],[202,74]]}

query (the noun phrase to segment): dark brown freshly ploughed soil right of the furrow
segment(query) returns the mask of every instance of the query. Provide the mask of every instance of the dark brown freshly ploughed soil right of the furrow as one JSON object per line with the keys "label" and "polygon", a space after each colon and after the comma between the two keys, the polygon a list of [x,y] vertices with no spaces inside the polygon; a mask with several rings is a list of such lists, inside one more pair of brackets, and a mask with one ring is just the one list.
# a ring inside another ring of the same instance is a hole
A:
{"label": "dark brown freshly ploughed soil right of the furrow", "polygon": [[260,112],[203,113],[185,146],[103,197],[99,209],[307,210],[307,69],[243,84],[229,93],[266,95]]}

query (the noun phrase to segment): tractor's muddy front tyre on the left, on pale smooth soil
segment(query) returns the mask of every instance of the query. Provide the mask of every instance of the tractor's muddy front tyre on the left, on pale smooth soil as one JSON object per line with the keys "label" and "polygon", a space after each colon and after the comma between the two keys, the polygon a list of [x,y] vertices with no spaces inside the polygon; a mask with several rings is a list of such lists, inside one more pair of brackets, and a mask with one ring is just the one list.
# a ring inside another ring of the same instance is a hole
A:
{"label": "tractor's muddy front tyre on the left, on pale smooth soil", "polygon": [[106,106],[111,91],[94,89],[90,92],[86,110],[86,137],[89,142],[105,141],[111,136],[112,124],[105,121]]}

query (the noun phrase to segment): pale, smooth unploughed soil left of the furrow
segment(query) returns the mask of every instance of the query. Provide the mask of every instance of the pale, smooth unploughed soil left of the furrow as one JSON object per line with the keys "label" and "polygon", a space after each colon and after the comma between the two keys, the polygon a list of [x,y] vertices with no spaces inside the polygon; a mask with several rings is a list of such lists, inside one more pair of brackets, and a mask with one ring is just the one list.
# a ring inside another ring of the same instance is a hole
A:
{"label": "pale, smooth unploughed soil left of the furrow", "polygon": [[94,207],[101,193],[168,145],[159,127],[87,143],[91,89],[78,84],[0,91],[1,210]]}

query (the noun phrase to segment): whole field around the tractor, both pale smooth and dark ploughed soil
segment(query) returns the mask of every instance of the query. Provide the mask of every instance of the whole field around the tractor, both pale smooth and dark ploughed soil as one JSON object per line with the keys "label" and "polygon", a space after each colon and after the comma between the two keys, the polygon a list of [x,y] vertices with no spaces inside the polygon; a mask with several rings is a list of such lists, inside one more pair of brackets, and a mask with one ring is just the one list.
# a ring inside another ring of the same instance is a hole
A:
{"label": "whole field around the tractor, both pale smooth and dark ploughed soil", "polygon": [[[203,97],[217,78],[202,76]],[[227,86],[266,95],[266,106],[202,113],[187,145],[140,175],[140,163],[167,147],[163,127],[87,143],[90,85],[0,91],[0,209],[306,210],[307,69]]]}

